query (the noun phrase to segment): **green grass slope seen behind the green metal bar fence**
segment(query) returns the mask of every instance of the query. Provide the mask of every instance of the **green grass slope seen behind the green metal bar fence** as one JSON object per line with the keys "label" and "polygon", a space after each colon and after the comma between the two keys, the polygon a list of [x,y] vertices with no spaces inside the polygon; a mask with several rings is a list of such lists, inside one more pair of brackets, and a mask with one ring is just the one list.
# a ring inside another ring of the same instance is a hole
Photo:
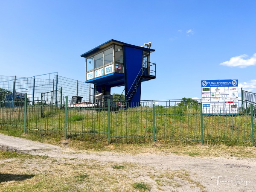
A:
{"label": "green grass slope seen behind the green metal bar fence", "polygon": [[[46,140],[39,137],[55,137],[58,143],[64,136],[64,109],[44,107],[41,116],[40,106],[29,106],[27,110],[26,129],[33,134],[31,140]],[[67,137],[75,140],[108,141],[108,112],[89,109],[69,109],[67,111]],[[201,142],[200,108],[187,106],[155,108],[155,126],[153,126],[152,108],[137,107],[126,111],[110,113],[111,143],[152,142]],[[8,125],[8,126],[4,126]],[[0,109],[0,129],[23,131],[23,110],[13,112],[8,108]],[[256,123],[254,123],[256,129]],[[251,118],[248,115],[237,116],[203,116],[203,137],[205,144],[224,144],[227,146],[252,145]],[[36,136],[38,135],[38,136]],[[256,132],[254,133],[256,137]],[[19,137],[19,136],[16,136]],[[29,136],[26,136],[29,137]],[[34,139],[33,139],[34,137]],[[103,138],[103,139],[99,139]],[[49,139],[52,140],[52,139]],[[99,148],[102,145],[99,144]],[[90,148],[90,147],[89,147]]]}

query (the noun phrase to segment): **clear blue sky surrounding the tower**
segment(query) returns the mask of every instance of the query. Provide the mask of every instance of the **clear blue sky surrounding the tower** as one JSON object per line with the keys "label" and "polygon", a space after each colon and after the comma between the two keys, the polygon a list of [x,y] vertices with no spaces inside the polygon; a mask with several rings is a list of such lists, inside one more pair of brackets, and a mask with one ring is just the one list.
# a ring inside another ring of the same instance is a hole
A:
{"label": "clear blue sky surrounding the tower", "polygon": [[243,90],[256,92],[255,0],[0,4],[0,75],[58,72],[85,81],[84,52],[110,39],[151,41],[157,78],[143,82],[141,99],[201,98],[201,80],[207,79],[238,79]]}

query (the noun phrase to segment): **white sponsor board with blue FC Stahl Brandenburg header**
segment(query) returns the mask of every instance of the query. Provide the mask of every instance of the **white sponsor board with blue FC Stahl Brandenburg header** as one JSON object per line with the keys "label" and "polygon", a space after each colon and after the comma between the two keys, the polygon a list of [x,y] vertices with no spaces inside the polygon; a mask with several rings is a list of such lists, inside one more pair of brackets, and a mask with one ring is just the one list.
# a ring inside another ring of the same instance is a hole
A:
{"label": "white sponsor board with blue FC Stahl Brandenburg header", "polygon": [[203,113],[238,113],[238,81],[202,80]]}

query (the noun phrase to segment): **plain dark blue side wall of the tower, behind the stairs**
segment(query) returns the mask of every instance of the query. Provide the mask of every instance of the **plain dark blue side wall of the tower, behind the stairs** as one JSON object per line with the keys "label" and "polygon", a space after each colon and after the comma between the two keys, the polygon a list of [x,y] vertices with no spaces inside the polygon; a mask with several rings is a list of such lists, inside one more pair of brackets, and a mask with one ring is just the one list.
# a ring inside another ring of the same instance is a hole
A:
{"label": "plain dark blue side wall of the tower, behind the stairs", "polygon": [[[143,61],[143,50],[135,49],[131,47],[126,47],[124,49],[125,56],[125,95],[128,94],[128,91],[132,87],[134,80],[136,79],[138,73],[142,67]],[[141,83],[137,88],[137,92],[134,93],[134,96],[130,102],[129,107],[136,107],[139,105],[141,95]]]}

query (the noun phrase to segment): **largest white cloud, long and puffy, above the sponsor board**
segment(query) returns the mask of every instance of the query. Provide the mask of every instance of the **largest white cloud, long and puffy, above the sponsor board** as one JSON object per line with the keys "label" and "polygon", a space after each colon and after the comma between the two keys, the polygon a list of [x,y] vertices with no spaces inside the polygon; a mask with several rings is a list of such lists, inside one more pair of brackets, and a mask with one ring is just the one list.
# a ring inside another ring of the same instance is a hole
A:
{"label": "largest white cloud, long and puffy, above the sponsor board", "polygon": [[240,67],[240,68],[256,65],[256,53],[254,53],[251,58],[245,59],[247,57],[248,55],[245,55],[245,54],[232,57],[230,58],[229,61],[225,61],[220,65],[226,65],[227,67]]}

